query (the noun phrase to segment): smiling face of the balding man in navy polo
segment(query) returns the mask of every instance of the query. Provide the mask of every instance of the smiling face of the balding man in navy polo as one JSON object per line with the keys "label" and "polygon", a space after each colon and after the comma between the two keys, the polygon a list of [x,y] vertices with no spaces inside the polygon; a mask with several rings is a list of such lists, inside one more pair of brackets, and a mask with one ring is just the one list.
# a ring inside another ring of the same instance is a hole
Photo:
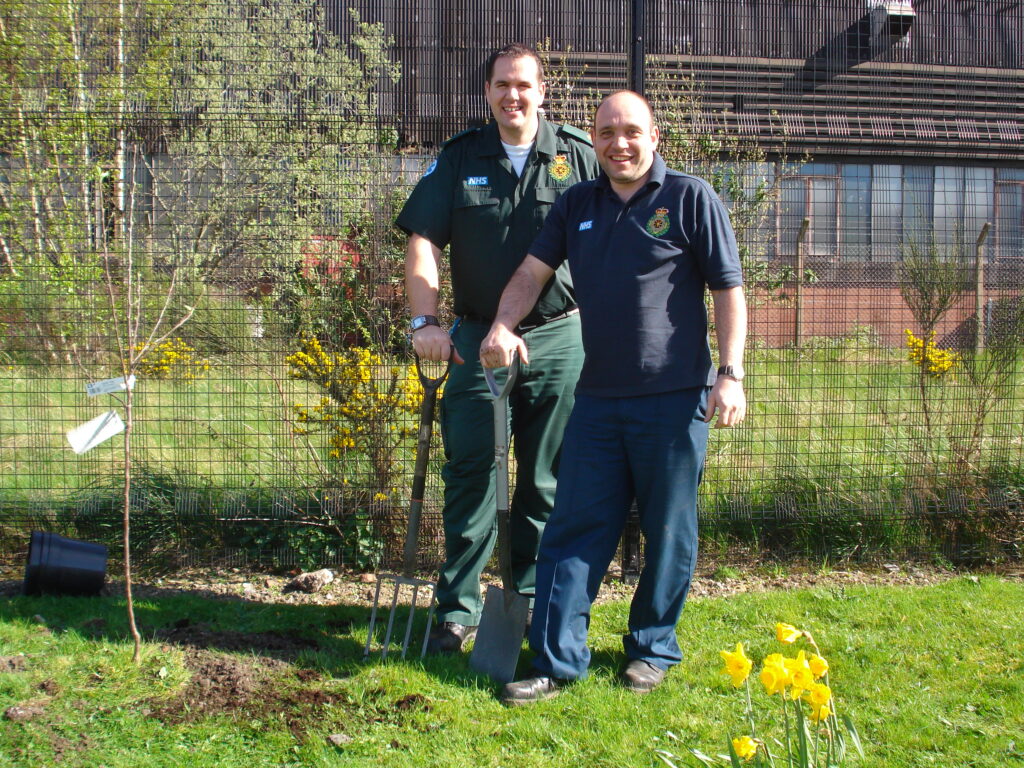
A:
{"label": "smiling face of the balding man in navy polo", "polygon": [[611,187],[627,199],[647,181],[654,162],[660,134],[650,109],[635,93],[614,93],[597,108],[591,135]]}

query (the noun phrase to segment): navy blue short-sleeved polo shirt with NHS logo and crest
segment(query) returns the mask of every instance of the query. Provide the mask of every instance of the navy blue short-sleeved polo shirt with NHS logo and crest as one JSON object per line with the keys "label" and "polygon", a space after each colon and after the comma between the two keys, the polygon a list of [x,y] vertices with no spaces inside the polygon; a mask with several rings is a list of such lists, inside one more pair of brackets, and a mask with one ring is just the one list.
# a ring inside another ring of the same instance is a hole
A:
{"label": "navy blue short-sleeved polo shirt with NHS logo and crest", "polygon": [[725,206],[703,179],[654,155],[649,181],[628,203],[608,177],[559,198],[529,253],[568,261],[586,360],[577,391],[631,397],[711,386],[705,287],[742,285]]}

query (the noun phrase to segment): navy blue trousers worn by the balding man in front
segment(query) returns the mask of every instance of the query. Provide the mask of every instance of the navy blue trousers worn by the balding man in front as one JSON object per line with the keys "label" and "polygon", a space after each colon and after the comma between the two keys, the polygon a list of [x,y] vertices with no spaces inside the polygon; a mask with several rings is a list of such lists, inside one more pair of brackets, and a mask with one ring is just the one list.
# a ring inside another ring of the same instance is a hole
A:
{"label": "navy blue trousers worn by the balding man in front", "polygon": [[697,485],[709,388],[641,397],[577,395],[562,444],[555,508],[541,540],[529,645],[537,673],[587,674],[590,609],[636,499],[644,566],[626,655],[679,664],[676,623],[697,556]]}

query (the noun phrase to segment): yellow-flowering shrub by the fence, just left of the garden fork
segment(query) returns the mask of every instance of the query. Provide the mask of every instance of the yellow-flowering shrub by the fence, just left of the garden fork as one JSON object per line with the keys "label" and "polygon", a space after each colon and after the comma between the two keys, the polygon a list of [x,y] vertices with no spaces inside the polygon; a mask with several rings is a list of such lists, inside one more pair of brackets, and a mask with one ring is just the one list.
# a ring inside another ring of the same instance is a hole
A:
{"label": "yellow-flowering shrub by the fence, just left of the garden fork", "polygon": [[291,378],[323,390],[316,402],[293,406],[294,431],[327,433],[336,484],[350,485],[349,475],[362,459],[362,471],[369,467],[372,474],[373,501],[390,499],[419,428],[413,417],[419,414],[423,387],[416,367],[387,365],[364,347],[329,352],[314,336],[304,336],[285,361]]}

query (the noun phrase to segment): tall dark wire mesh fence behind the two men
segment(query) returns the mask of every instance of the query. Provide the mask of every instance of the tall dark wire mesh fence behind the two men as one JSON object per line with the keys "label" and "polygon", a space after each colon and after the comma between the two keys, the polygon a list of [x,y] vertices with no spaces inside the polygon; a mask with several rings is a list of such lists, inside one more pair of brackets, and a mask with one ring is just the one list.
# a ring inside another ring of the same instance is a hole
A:
{"label": "tall dark wire mesh fence behind the two men", "polygon": [[[7,2],[4,557],[117,545],[130,459],[152,564],[394,560],[420,396],[394,217],[486,118],[495,47],[542,48],[548,116],[587,127],[635,2]],[[729,204],[751,301],[706,553],[1020,559],[1022,13],[646,3],[660,150]]]}

